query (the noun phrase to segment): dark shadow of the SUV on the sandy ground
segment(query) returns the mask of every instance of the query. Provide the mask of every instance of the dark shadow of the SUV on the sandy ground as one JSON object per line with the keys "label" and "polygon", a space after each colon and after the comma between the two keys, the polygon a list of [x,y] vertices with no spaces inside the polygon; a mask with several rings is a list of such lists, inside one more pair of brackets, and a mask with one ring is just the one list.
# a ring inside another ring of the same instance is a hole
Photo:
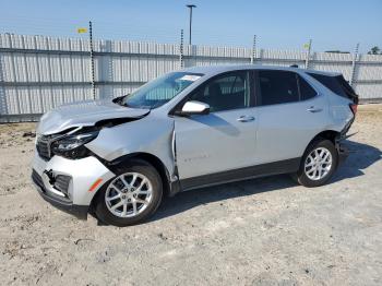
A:
{"label": "dark shadow of the SUV on the sandy ground", "polygon": [[[349,157],[338,167],[335,176],[329,182],[330,184],[362,176],[366,168],[381,159],[382,153],[374,146],[353,141],[347,141],[346,144],[350,151]],[[288,175],[277,175],[181,192],[174,198],[165,198],[150,222],[186,212],[198,205],[295,186],[297,183]]]}

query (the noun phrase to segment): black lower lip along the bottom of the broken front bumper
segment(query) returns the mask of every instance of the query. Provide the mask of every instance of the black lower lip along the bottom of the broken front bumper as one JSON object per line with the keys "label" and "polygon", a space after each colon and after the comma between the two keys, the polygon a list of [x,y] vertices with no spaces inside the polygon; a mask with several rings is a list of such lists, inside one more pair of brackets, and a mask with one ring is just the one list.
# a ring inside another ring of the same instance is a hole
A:
{"label": "black lower lip along the bottom of the broken front bumper", "polygon": [[35,170],[33,170],[32,172],[32,181],[35,183],[38,193],[43,196],[45,201],[49,202],[51,205],[53,205],[55,207],[65,213],[74,215],[80,219],[87,218],[87,211],[88,211],[87,205],[72,204],[69,201],[64,201],[60,198],[55,196],[55,194],[49,193],[49,191],[45,189],[44,182],[41,181],[41,179],[39,178],[38,174]]}

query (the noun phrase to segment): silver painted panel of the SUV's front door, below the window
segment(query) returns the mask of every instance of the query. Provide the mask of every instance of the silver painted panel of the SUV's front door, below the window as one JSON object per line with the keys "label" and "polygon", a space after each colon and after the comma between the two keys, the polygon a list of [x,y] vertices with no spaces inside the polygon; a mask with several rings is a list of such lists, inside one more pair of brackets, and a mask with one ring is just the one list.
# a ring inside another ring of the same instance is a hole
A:
{"label": "silver painted panel of the SUV's front door, below the window", "polygon": [[180,179],[254,165],[255,108],[176,117]]}

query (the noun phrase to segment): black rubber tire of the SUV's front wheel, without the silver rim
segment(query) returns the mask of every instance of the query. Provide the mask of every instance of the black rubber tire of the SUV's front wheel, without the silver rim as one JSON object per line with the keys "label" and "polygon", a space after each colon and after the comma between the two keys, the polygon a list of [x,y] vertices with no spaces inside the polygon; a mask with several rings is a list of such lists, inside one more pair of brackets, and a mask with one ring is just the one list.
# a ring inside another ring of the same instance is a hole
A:
{"label": "black rubber tire of the SUV's front wheel, without the silver rim", "polygon": [[134,216],[134,217],[118,217],[114,215],[109,208],[106,205],[105,202],[105,192],[107,190],[107,187],[109,183],[116,178],[114,177],[110,179],[107,183],[105,183],[97,193],[96,198],[96,205],[95,205],[95,213],[98,219],[102,222],[115,225],[115,226],[130,226],[135,225],[139,223],[142,223],[143,221],[147,219],[151,215],[155,213],[155,211],[158,208],[162,196],[163,196],[163,183],[159,174],[156,171],[156,169],[150,165],[148,163],[142,162],[142,160],[134,160],[129,164],[129,166],[119,167],[115,171],[116,176],[122,175],[124,172],[140,172],[147,177],[147,179],[151,181],[153,187],[153,198],[150,203],[150,205],[144,210],[141,214]]}

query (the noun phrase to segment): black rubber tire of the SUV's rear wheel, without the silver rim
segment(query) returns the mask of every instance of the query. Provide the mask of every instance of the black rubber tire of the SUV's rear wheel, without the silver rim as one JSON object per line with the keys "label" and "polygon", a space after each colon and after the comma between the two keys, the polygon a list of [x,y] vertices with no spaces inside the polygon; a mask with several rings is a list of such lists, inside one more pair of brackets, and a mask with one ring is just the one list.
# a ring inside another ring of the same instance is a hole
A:
{"label": "black rubber tire of the SUV's rear wheel, without the silver rim", "polygon": [[[326,150],[329,150],[329,152],[331,152],[332,155],[332,167],[331,170],[326,174],[325,177],[323,177],[320,180],[311,180],[309,179],[309,177],[306,175],[305,172],[305,162],[308,157],[308,155],[318,147],[324,147]],[[306,186],[306,187],[319,187],[322,186],[324,183],[326,183],[333,176],[333,174],[335,172],[336,168],[338,165],[338,152],[335,148],[334,144],[332,143],[332,141],[330,140],[325,140],[325,139],[321,139],[321,140],[317,140],[314,142],[312,142],[306,150],[302,159],[301,159],[301,164],[300,164],[300,168],[297,172],[297,180],[300,184]]]}

